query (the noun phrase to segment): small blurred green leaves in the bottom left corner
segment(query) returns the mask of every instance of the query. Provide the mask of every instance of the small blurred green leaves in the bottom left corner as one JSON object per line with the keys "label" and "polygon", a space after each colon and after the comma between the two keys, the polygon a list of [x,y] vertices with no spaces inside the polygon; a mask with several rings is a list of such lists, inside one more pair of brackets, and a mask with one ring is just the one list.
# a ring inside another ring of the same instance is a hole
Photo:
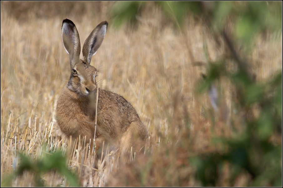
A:
{"label": "small blurred green leaves in the bottom left corner", "polygon": [[45,155],[42,159],[38,159],[35,162],[22,153],[19,153],[19,155],[21,157],[21,163],[17,170],[11,175],[4,177],[1,182],[1,186],[12,186],[12,181],[15,177],[22,175],[25,171],[29,171],[35,176],[36,186],[42,187],[43,180],[41,175],[52,170],[61,173],[62,176],[65,176],[71,186],[79,186],[77,176],[70,172],[66,166],[67,158],[63,156],[61,151]]}

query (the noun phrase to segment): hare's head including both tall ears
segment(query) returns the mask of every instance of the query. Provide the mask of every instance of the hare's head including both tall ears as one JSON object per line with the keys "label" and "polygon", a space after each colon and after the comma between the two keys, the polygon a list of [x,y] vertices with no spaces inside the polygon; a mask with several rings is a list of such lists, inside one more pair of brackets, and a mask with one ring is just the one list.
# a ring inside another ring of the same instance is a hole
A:
{"label": "hare's head including both tall ears", "polygon": [[62,40],[67,53],[70,55],[71,66],[71,75],[67,87],[76,92],[78,96],[88,96],[96,89],[97,69],[91,66],[90,62],[103,42],[107,26],[107,21],[102,21],[91,32],[82,47],[83,59],[80,59],[81,43],[77,28],[71,20],[63,20]]}

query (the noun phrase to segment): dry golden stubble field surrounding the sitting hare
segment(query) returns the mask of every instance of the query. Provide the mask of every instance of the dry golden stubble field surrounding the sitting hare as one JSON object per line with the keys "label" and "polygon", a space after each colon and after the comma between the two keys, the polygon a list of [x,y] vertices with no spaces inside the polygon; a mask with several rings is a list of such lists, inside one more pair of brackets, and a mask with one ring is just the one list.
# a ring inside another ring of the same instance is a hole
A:
{"label": "dry golden stubble field surrounding the sitting hare", "polygon": [[[214,136],[233,137],[235,129],[242,129],[237,124],[239,114],[231,110],[235,101],[229,81],[217,83],[221,87],[219,112],[212,110],[207,93],[197,92],[206,64],[224,52],[213,35],[201,22],[189,18],[186,31],[180,33],[158,8],[142,15],[136,28],[115,29],[108,15],[112,2],[52,3],[55,8],[48,3],[1,2],[1,176],[17,169],[18,153],[37,161],[63,150],[81,186],[201,186],[195,168],[184,159],[218,150],[211,142]],[[68,139],[57,126],[56,100],[70,74],[61,38],[65,18],[76,24],[81,46],[97,24],[109,22],[91,65],[99,69],[99,87],[130,101],[148,128],[150,137],[135,159],[122,161],[117,152],[104,153],[107,157],[96,169],[94,156],[87,156],[82,144],[71,153]],[[282,70],[282,31],[257,37],[255,46],[248,58],[257,80]],[[282,135],[277,142],[281,139]],[[250,185],[246,172],[229,184],[228,166],[219,172],[223,177],[216,185]],[[36,186],[34,178],[33,173],[24,172],[12,186]],[[41,178],[45,186],[69,186],[55,171]]]}

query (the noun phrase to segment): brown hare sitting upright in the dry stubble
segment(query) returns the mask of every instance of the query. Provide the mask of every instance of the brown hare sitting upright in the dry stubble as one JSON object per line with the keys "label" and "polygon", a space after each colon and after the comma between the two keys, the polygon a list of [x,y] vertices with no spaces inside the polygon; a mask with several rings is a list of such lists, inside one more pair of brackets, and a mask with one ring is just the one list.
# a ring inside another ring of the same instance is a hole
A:
{"label": "brown hare sitting upright in the dry stubble", "polygon": [[124,97],[97,88],[97,69],[90,65],[92,56],[104,40],[107,26],[107,21],[102,21],[90,33],[82,47],[83,59],[80,59],[77,28],[71,20],[63,20],[62,40],[70,56],[71,75],[58,97],[56,120],[67,137],[85,137],[91,150],[95,140],[96,151],[103,141],[112,143],[113,149],[121,148],[123,144],[123,150],[129,151],[131,147],[135,148],[138,139],[145,140],[148,137],[147,129],[132,104]]}

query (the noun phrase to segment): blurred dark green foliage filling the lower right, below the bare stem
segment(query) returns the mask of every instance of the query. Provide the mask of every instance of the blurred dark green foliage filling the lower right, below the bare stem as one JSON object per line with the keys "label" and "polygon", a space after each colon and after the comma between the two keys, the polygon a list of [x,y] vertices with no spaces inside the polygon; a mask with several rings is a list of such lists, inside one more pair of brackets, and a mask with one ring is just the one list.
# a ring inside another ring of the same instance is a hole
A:
{"label": "blurred dark green foliage filling the lower right, below the bare stem", "polygon": [[[267,83],[253,81],[250,75],[242,69],[236,73],[229,73],[223,64],[211,64],[208,76],[200,89],[208,91],[213,83],[221,76],[230,79],[235,85],[238,100],[237,110],[248,114],[255,104],[259,107],[258,117],[239,116],[246,129],[239,134],[240,139],[221,139],[228,147],[224,153],[205,154],[193,159],[196,164],[196,177],[204,186],[216,185],[219,178],[217,170],[224,162],[233,165],[236,176],[245,170],[251,174],[253,186],[282,186],[282,146],[270,141],[274,134],[282,134],[282,73]],[[262,184],[262,183],[266,184]]]}

